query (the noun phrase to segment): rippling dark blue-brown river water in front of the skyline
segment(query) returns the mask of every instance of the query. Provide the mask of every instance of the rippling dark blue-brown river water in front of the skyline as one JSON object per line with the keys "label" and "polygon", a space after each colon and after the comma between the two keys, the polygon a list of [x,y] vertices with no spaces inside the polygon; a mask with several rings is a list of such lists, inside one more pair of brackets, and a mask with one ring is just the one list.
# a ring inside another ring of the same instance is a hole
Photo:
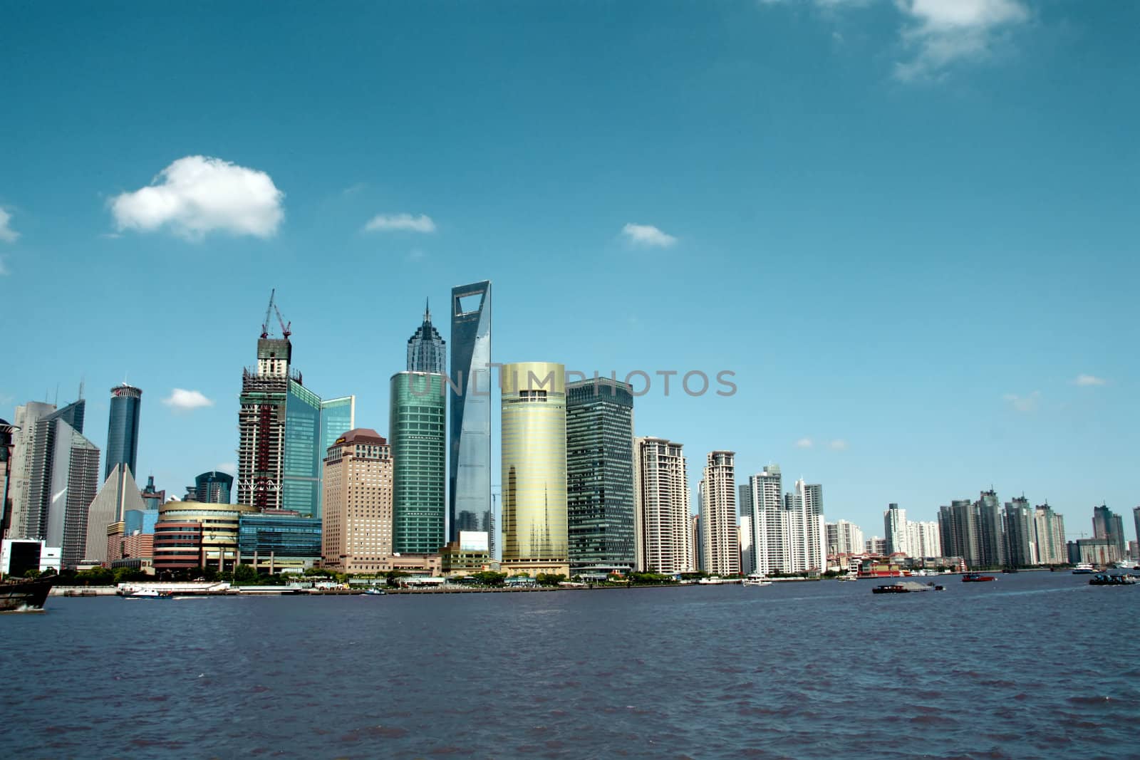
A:
{"label": "rippling dark blue-brown river water in front of the skyline", "polygon": [[1140,754],[1140,588],[944,582],[52,598],[0,618],[0,754]]}

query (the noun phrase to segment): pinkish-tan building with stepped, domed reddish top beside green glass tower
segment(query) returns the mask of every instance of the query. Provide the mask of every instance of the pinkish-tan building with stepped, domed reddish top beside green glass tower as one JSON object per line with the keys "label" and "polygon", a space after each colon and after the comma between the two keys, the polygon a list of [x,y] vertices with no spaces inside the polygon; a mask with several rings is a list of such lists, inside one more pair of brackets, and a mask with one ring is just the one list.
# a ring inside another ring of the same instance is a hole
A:
{"label": "pinkish-tan building with stepped, domed reddish top beside green glass tower", "polygon": [[323,477],[324,566],[386,571],[392,556],[392,451],[376,431],[351,430],[328,447]]}

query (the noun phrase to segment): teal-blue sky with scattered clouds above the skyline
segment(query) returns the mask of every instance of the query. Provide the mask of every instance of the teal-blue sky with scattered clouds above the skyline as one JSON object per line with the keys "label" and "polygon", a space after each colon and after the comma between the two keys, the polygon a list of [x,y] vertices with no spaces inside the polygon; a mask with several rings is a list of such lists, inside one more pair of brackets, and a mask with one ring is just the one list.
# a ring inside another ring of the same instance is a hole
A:
{"label": "teal-blue sky with scattered clouds above the skyline", "polygon": [[2,11],[0,416],[83,378],[103,446],[125,376],[180,495],[235,460],[271,287],[385,433],[424,297],[448,337],[489,278],[497,361],[735,373],[637,400],[694,487],[733,449],[868,536],[991,484],[1132,536],[1140,6],[141,10]]}

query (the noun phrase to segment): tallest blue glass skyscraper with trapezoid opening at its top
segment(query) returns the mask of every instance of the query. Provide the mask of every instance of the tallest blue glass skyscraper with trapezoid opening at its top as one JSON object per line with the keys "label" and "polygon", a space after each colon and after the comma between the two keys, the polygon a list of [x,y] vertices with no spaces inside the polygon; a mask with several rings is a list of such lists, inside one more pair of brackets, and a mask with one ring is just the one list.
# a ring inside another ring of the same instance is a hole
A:
{"label": "tallest blue glass skyscraper with trapezoid opening at its top", "polygon": [[[451,288],[451,410],[448,537],[484,533],[499,555],[491,514],[491,284]],[[469,539],[478,538],[469,536]]]}

